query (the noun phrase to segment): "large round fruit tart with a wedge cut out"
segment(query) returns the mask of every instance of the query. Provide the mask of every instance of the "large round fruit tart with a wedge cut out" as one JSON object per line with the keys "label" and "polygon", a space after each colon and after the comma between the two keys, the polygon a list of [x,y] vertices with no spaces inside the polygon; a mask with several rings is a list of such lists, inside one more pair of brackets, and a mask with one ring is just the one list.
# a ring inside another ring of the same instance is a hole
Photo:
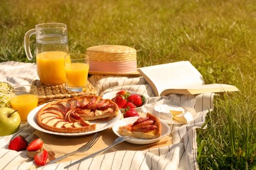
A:
{"label": "large round fruit tart with a wedge cut out", "polygon": [[112,119],[119,108],[110,99],[85,95],[53,101],[37,112],[37,123],[43,129],[58,133],[81,133],[94,131],[96,124],[89,120]]}

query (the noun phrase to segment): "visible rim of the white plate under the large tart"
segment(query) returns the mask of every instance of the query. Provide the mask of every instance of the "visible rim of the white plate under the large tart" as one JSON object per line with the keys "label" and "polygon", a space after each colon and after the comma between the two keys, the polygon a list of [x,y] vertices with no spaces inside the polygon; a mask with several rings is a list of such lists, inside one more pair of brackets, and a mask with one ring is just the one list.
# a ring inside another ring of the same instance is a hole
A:
{"label": "visible rim of the white plate under the large tart", "polygon": [[37,112],[45,106],[47,103],[40,105],[39,107],[36,107],[33,109],[30,114],[28,114],[28,123],[30,126],[34,127],[35,129],[39,131],[43,131],[45,133],[53,134],[53,135],[62,135],[62,136],[82,136],[82,135],[89,135],[91,133],[96,133],[98,131],[102,131],[104,129],[107,129],[108,127],[112,127],[116,122],[121,118],[121,112],[119,111],[119,114],[113,118],[112,120],[94,120],[94,121],[89,121],[93,124],[96,124],[96,130],[95,131],[87,131],[87,132],[82,132],[82,133],[58,133],[54,131],[48,131],[46,129],[43,129],[37,124],[36,120],[36,114]]}

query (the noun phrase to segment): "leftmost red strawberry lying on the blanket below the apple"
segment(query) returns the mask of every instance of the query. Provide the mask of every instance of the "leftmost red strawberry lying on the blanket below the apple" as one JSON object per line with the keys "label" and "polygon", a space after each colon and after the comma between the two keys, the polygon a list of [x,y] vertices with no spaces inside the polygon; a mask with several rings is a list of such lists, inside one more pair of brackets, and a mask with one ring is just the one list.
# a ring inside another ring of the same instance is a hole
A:
{"label": "leftmost red strawberry lying on the blanket below the apple", "polygon": [[28,142],[24,139],[22,136],[15,137],[12,139],[12,141],[9,143],[8,148],[11,150],[26,150],[28,146]]}

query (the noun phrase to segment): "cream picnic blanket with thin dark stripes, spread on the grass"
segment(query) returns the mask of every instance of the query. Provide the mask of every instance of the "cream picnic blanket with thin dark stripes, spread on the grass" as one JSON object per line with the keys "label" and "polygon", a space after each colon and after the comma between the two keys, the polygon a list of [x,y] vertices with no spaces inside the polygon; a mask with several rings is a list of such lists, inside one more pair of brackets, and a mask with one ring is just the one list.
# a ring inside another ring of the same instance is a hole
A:
{"label": "cream picnic blanket with thin dark stripes, spread on the grass", "polygon": [[[0,63],[0,81],[9,82],[12,86],[31,84],[39,79],[35,63],[6,61]],[[170,124],[171,144],[145,150],[116,150],[89,158],[69,169],[199,169],[197,163],[196,128],[201,128],[205,116],[213,109],[214,93],[200,95],[175,95],[156,97],[150,85],[142,76],[91,75],[89,81],[95,87],[97,95],[116,90],[139,92],[148,98],[148,103],[156,103],[162,99],[173,105],[182,105],[186,101],[194,101],[196,118],[189,124]],[[33,169],[33,159],[26,151],[16,152],[8,149],[9,142],[18,135],[33,139],[35,129],[28,122],[20,131],[12,135],[0,137],[0,169]],[[62,161],[37,167],[37,169],[64,169],[75,160]]]}

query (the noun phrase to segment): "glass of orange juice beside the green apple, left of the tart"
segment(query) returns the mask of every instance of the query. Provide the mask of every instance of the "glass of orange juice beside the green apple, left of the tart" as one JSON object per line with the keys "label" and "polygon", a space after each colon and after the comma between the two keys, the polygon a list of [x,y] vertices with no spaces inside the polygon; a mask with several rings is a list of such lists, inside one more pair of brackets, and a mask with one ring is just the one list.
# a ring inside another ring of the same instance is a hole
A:
{"label": "glass of orange juice beside the green apple, left of the tart", "polygon": [[31,110],[37,107],[37,88],[32,85],[19,85],[12,88],[11,107],[20,114],[22,122],[27,121],[27,116]]}

